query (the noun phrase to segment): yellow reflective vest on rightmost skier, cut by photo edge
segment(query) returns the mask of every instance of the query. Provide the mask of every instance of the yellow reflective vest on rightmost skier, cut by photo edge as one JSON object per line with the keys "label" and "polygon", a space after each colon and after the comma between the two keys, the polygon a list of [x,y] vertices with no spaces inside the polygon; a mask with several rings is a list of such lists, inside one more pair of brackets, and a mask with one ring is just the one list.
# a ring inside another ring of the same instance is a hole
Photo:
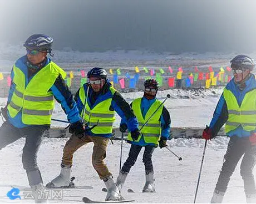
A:
{"label": "yellow reflective vest on rightmost skier, cut by photo edge", "polygon": [[245,131],[254,131],[256,128],[256,89],[245,94],[240,106],[232,91],[225,88],[223,96],[228,108],[225,131],[235,130],[239,125],[242,125]]}

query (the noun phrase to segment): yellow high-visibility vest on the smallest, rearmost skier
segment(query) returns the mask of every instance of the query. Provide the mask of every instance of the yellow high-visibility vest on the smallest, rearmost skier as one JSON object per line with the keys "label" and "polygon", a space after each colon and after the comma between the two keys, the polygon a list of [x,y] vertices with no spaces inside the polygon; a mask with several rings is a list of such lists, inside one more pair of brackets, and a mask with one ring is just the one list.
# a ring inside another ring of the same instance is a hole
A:
{"label": "yellow high-visibility vest on the smallest, rearmost skier", "polygon": [[[141,113],[141,100],[142,98],[135,99],[132,101],[132,110],[134,110],[134,114],[139,121],[139,129],[146,123],[146,121],[151,117],[151,115],[155,112],[155,110],[160,106],[160,108],[156,111],[156,113],[152,116],[152,118],[148,121],[148,123],[141,129],[140,136],[135,141],[140,141],[141,136],[143,134],[144,141],[146,143],[157,144],[161,136],[161,122],[160,117],[163,112],[163,104],[159,100],[155,100],[155,102],[150,106],[149,110],[143,118]],[[133,141],[131,138],[131,134],[129,132],[127,140]]]}

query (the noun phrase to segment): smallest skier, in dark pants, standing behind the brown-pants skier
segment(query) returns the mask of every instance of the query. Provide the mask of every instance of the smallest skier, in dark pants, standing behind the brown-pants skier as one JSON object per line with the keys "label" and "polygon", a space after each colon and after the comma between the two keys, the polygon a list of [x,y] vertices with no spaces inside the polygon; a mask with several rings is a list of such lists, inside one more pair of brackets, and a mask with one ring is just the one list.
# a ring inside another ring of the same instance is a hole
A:
{"label": "smallest skier, in dark pants, standing behind the brown-pants skier", "polygon": [[[152,154],[159,142],[160,148],[167,146],[166,140],[170,135],[170,114],[164,105],[161,105],[161,101],[156,99],[156,93],[158,90],[158,82],[155,79],[147,79],[144,82],[145,90],[142,98],[137,98],[130,104],[136,118],[139,121],[139,127],[152,116],[148,123],[141,129],[141,135],[138,138],[128,134],[127,142],[131,144],[129,156],[122,166],[122,169],[117,177],[116,184],[119,190],[124,186],[126,177],[134,166],[137,157],[142,149],[145,147],[143,154],[143,162],[145,165],[146,183],[142,192],[155,192],[154,185],[154,169],[152,164]],[[155,110],[160,108],[153,115]],[[121,121],[120,131],[125,132],[127,129],[127,122]],[[160,137],[160,140],[159,140]]]}

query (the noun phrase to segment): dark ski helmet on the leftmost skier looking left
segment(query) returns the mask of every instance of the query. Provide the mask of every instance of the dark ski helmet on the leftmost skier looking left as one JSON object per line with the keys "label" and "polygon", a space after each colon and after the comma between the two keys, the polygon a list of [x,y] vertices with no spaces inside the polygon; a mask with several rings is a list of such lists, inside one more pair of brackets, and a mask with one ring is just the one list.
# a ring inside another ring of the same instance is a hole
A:
{"label": "dark ski helmet on the leftmost skier looking left", "polygon": [[51,47],[53,38],[45,34],[33,34],[31,35],[23,46],[27,49],[35,49],[40,51],[47,51],[51,53]]}

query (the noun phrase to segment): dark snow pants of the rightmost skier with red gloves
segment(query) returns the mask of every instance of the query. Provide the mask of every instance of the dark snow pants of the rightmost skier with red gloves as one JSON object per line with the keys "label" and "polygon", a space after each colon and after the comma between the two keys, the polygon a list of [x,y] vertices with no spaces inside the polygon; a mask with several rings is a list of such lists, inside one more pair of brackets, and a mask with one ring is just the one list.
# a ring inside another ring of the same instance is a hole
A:
{"label": "dark snow pants of the rightmost skier with red gloves", "polygon": [[[243,156],[244,155],[244,156]],[[253,168],[256,163],[256,146],[251,145],[249,137],[230,137],[228,149],[224,156],[223,166],[215,190],[227,191],[230,176],[232,176],[238,161],[243,156],[240,175],[244,180],[246,194],[256,193]]]}

